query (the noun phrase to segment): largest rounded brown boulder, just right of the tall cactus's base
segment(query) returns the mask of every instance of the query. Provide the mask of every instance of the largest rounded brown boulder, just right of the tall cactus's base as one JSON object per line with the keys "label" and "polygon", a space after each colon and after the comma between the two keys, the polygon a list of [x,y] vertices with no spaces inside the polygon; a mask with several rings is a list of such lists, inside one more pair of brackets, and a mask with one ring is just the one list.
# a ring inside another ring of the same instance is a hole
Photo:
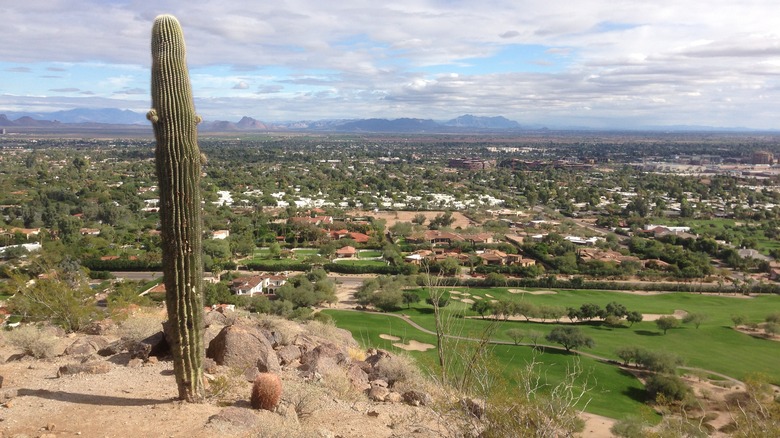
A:
{"label": "largest rounded brown boulder, just right of the tall cactus's base", "polygon": [[227,326],[219,332],[206,350],[206,356],[218,365],[261,372],[279,371],[279,359],[260,329],[243,325]]}

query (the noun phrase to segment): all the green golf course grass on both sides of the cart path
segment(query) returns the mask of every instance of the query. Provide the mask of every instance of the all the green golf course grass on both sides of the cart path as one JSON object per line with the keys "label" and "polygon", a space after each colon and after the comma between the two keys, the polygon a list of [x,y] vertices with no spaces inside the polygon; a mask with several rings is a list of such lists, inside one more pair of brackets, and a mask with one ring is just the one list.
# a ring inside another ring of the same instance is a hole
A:
{"label": "all the green golf course grass on both sides of the cart path", "polygon": [[[739,314],[744,315],[748,322],[762,322],[767,315],[780,309],[778,295],[744,298],[733,295],[691,293],[640,295],[589,290],[550,291],[511,288],[446,288],[445,290],[448,292],[446,295],[450,297],[450,303],[443,308],[444,314],[454,316],[452,319],[454,323],[449,333],[464,337],[479,337],[491,321],[482,319],[472,312],[470,304],[462,302],[463,299],[528,301],[537,306],[559,307],[580,307],[585,303],[594,303],[602,308],[607,303],[615,301],[626,306],[628,310],[636,310],[646,315],[673,314],[676,310],[702,313],[707,318],[698,329],[692,324],[681,324],[679,328],[671,329],[665,335],[653,321],[642,321],[632,327],[626,324],[622,328],[607,327],[600,321],[579,322],[576,325],[595,341],[594,348],[583,350],[586,353],[618,361],[619,358],[615,354],[618,348],[637,346],[652,351],[674,353],[682,357],[685,365],[689,367],[702,368],[739,380],[760,373],[767,376],[771,383],[780,384],[780,368],[777,367],[780,361],[780,342],[738,332],[733,329],[731,321],[732,315]],[[423,290],[416,290],[416,292],[421,298],[427,296]],[[386,314],[327,312],[334,316],[340,327],[352,331],[354,337],[365,346],[396,349],[392,346],[392,342],[381,339],[380,334],[397,336],[402,342],[414,339],[435,344],[436,341],[433,335],[416,330],[403,320]],[[423,302],[394,313],[406,315],[411,321],[427,330],[435,330],[432,308]],[[519,328],[524,332],[541,333],[540,343],[547,343],[543,336],[553,328],[566,324],[570,322],[565,317],[558,322],[502,321],[492,339],[509,342],[511,339],[506,331],[510,328]],[[531,341],[526,337],[521,342]],[[513,382],[518,370],[533,357],[534,351],[536,350],[528,346],[497,345],[494,347],[494,356],[503,367],[501,375],[507,379],[507,382]],[[435,369],[434,350],[413,354],[424,367]],[[566,363],[571,358],[572,355],[552,349],[547,349],[544,354],[537,356],[538,361],[549,367],[545,372],[551,381],[562,377]],[[633,376],[620,371],[615,365],[587,357],[582,357],[581,360],[586,371],[597,381],[597,385],[590,393],[592,401],[587,408],[589,412],[612,418],[623,418],[638,413],[644,415],[644,391],[642,385]]]}

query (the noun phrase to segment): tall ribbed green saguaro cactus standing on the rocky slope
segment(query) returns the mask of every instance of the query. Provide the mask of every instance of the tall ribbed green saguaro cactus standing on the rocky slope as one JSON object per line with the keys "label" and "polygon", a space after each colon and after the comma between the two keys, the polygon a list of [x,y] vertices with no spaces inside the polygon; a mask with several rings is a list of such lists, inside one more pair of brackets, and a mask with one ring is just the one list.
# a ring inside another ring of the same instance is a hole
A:
{"label": "tall ribbed green saguaro cactus standing on the rocky slope", "polygon": [[152,109],[157,139],[163,277],[179,398],[203,400],[201,158],[184,34],[175,17],[152,26]]}

